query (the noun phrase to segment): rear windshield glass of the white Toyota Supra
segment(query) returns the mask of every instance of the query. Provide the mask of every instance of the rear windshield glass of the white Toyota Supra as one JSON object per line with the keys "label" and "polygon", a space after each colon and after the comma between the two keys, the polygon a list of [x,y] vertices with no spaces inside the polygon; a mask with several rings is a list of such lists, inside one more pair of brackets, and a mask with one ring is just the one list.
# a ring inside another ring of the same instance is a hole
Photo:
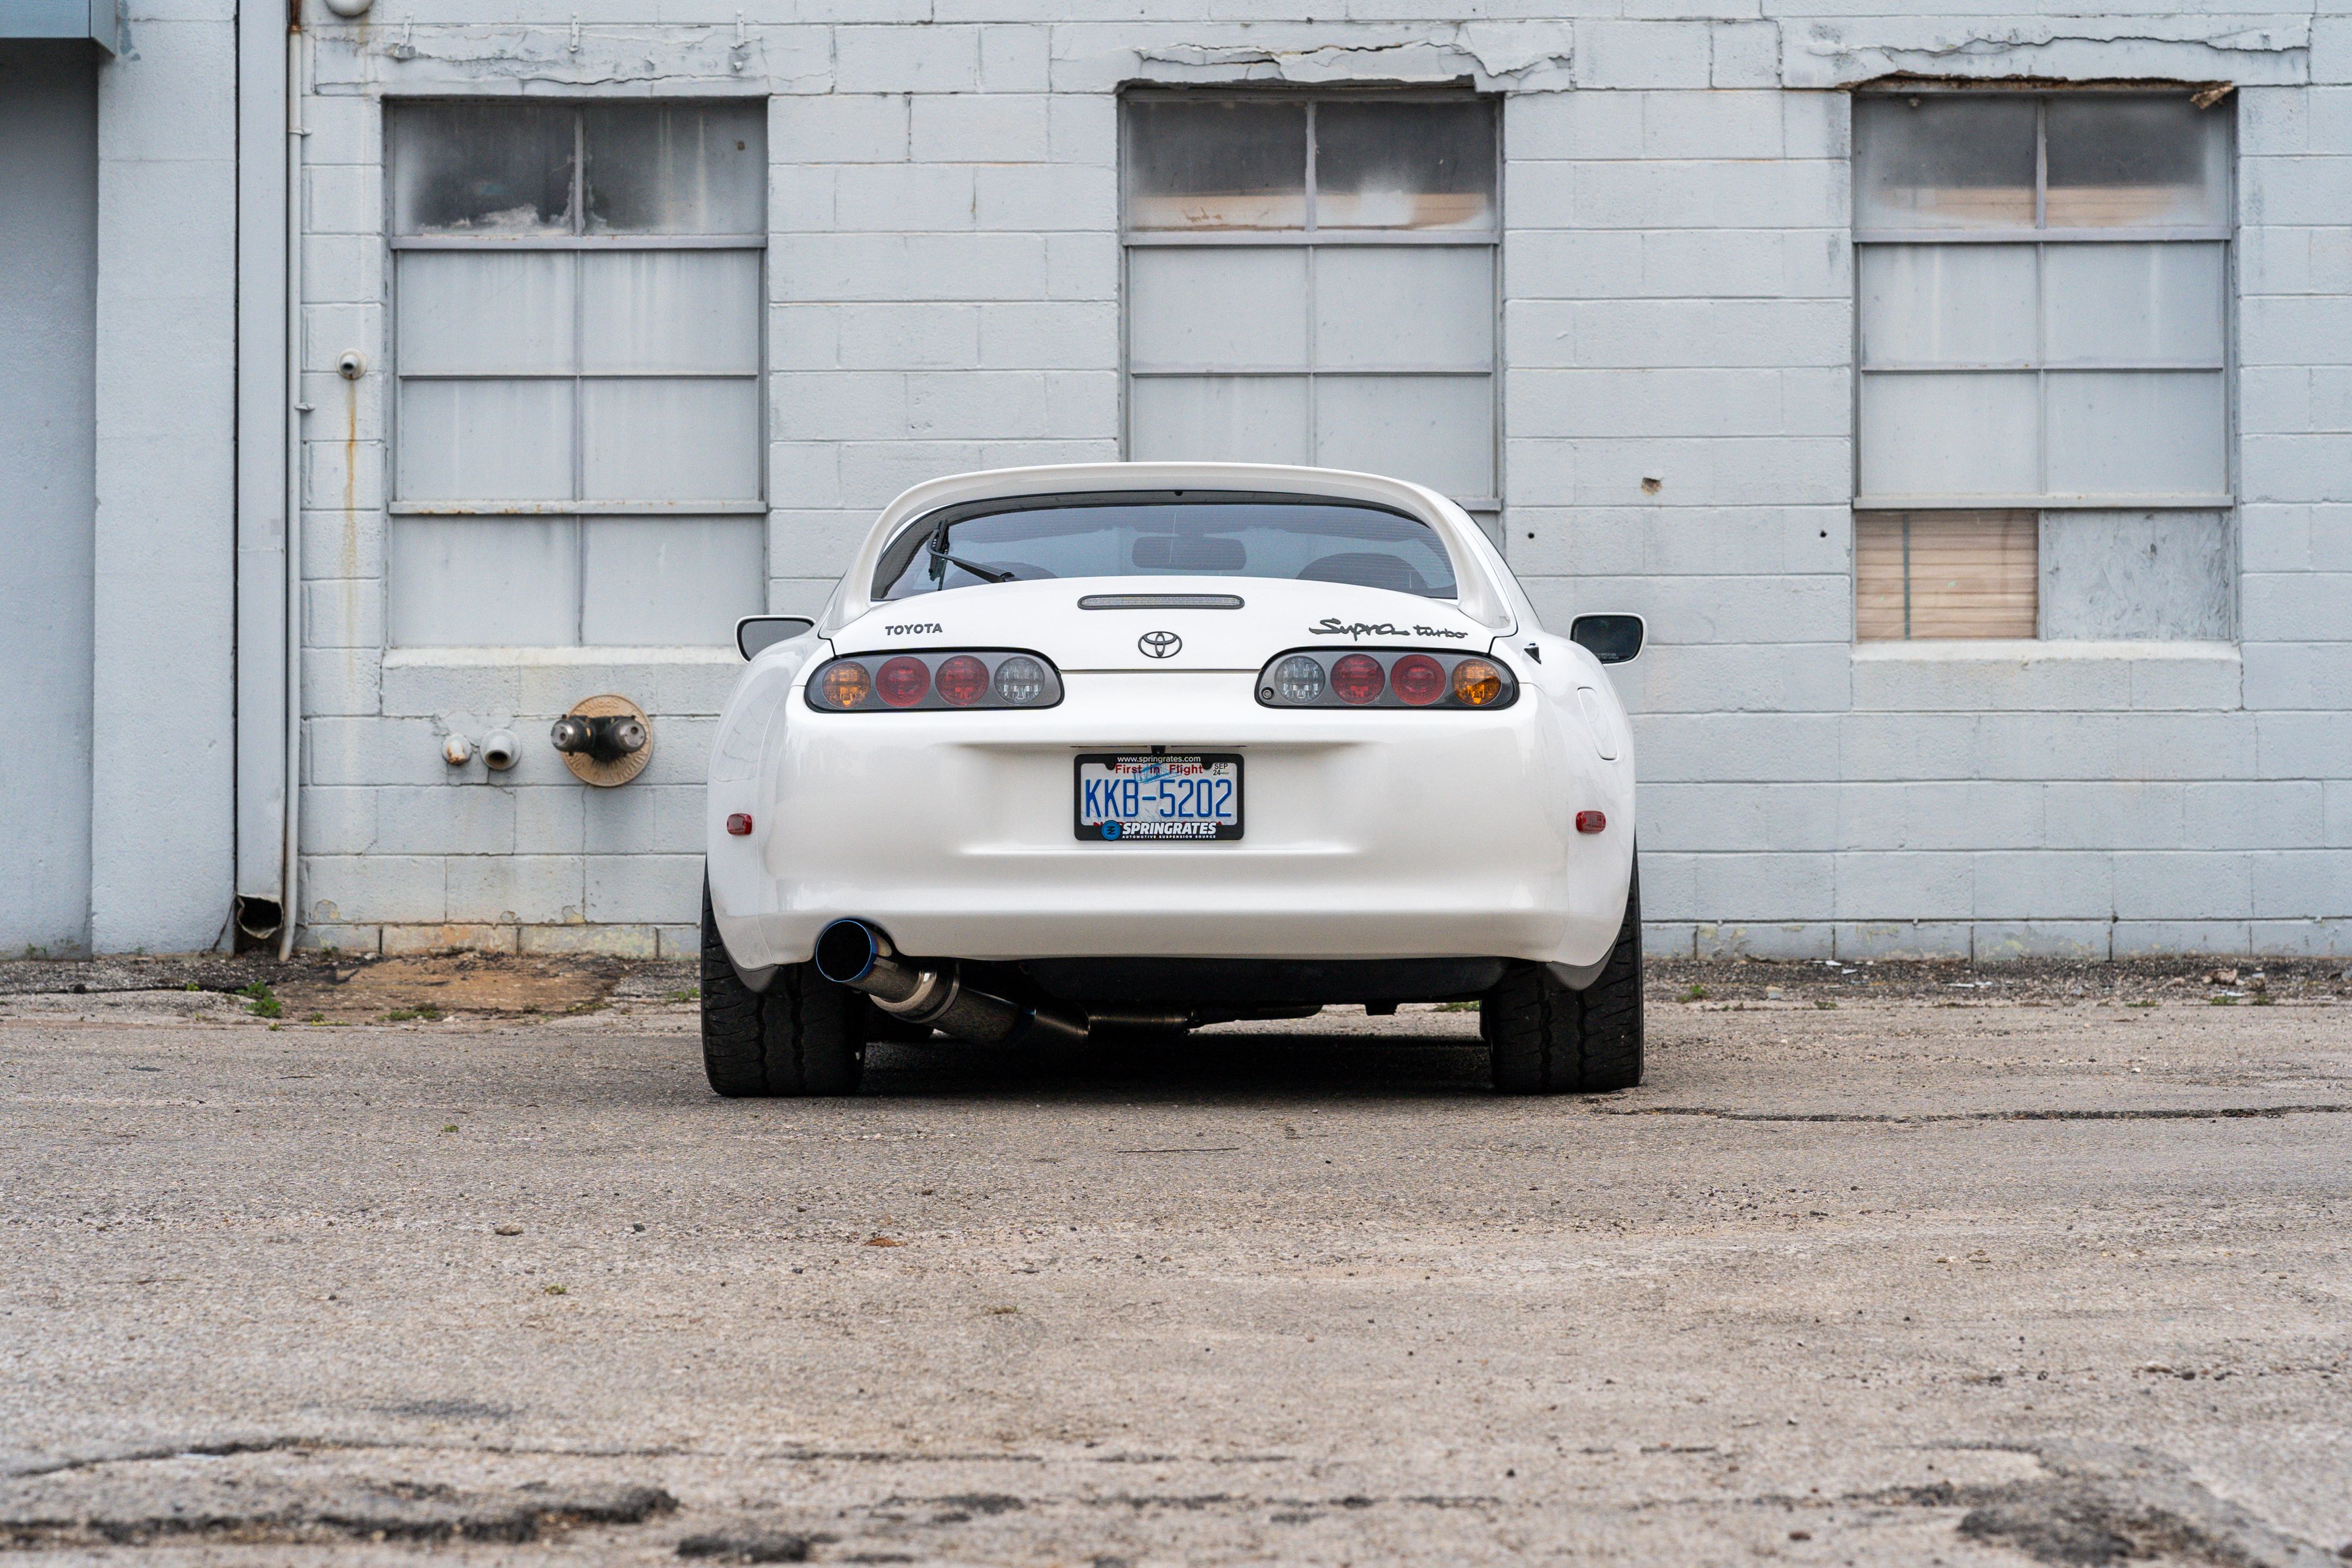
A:
{"label": "rear windshield glass of the white Toyota Supra", "polygon": [[1357,501],[1117,494],[974,501],[891,541],[882,599],[1073,576],[1256,576],[1454,597],[1437,529]]}

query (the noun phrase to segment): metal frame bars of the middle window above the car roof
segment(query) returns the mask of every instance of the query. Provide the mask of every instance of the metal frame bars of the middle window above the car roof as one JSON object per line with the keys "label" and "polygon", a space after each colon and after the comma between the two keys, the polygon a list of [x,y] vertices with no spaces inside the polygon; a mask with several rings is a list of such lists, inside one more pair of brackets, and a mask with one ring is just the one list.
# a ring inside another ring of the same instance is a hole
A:
{"label": "metal frame bars of the middle window above the car roof", "polygon": [[[1131,160],[1129,148],[1129,106],[1131,103],[1296,103],[1305,108],[1305,223],[1301,228],[1225,228],[1225,230],[1167,230],[1167,228],[1131,228],[1129,226],[1129,176]],[[1317,103],[1484,103],[1489,110],[1489,122],[1494,129],[1494,212],[1486,228],[1444,228],[1444,230],[1411,230],[1411,228],[1317,228],[1315,226],[1315,106]],[[1486,458],[1489,473],[1494,475],[1494,489],[1484,496],[1451,496],[1456,505],[1477,517],[1486,527],[1486,517],[1501,517],[1503,512],[1503,454],[1505,454],[1505,400],[1503,400],[1503,181],[1508,165],[1503,160],[1503,106],[1496,94],[1461,92],[1461,89],[1350,89],[1350,87],[1327,87],[1327,89],[1235,89],[1235,87],[1134,87],[1120,94],[1117,113],[1117,155],[1120,155],[1120,456],[1134,458],[1136,428],[1134,428],[1134,383],[1138,376],[1155,381],[1181,381],[1181,378],[1207,378],[1207,376],[1291,376],[1305,381],[1308,397],[1308,437],[1310,442],[1319,435],[1317,414],[1319,397],[1317,383],[1327,376],[1484,376],[1486,378],[1486,402],[1491,407],[1489,433],[1491,454]],[[1263,367],[1183,367],[1183,369],[1148,369],[1138,371],[1134,364],[1131,341],[1134,341],[1134,254],[1138,249],[1235,249],[1235,247],[1287,247],[1287,249],[1331,249],[1331,247],[1451,247],[1451,249],[1486,249],[1491,252],[1489,275],[1489,353],[1482,369],[1472,367],[1409,367],[1409,364],[1378,364],[1378,367],[1317,367],[1315,360],[1315,277],[1317,268],[1305,268],[1305,343],[1308,364],[1298,369],[1263,369]],[[1489,538],[1508,536],[1508,529],[1486,527]]]}

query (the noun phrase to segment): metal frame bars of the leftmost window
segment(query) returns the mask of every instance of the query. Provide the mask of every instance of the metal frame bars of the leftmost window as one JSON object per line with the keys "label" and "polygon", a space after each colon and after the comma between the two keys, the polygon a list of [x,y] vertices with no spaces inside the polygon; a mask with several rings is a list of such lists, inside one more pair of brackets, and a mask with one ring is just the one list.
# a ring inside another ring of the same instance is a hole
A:
{"label": "metal frame bars of the leftmost window", "polygon": [[[767,172],[774,169],[774,155],[762,141],[762,221],[757,233],[748,235],[670,235],[670,233],[616,233],[616,235],[593,235],[588,233],[588,110],[614,108],[614,106],[642,106],[642,108],[743,108],[762,106],[764,96],[654,96],[654,99],[612,99],[612,96],[562,96],[562,99],[527,99],[536,106],[562,108],[572,115],[572,233],[567,235],[543,235],[543,233],[477,233],[477,235],[402,235],[397,233],[397,216],[393,202],[397,200],[395,172],[393,172],[393,118],[409,108],[428,108],[433,103],[515,103],[510,96],[485,96],[485,94],[452,94],[452,92],[426,92],[426,94],[386,94],[379,106],[379,146],[381,155],[381,202],[383,202],[383,515],[386,524],[395,517],[572,517],[574,529],[574,574],[576,590],[572,599],[572,642],[569,644],[529,644],[529,646],[576,646],[576,649],[614,649],[621,658],[642,658],[649,649],[668,644],[616,644],[616,642],[588,642],[586,616],[588,616],[588,522],[593,517],[757,517],[760,529],[760,604],[769,602],[769,578],[774,571],[774,541],[769,538],[767,517],[774,508],[774,494],[769,489],[769,233],[771,216],[767,216]],[[762,127],[764,136],[764,127]],[[470,252],[470,254],[517,254],[517,252],[586,252],[586,254],[614,254],[614,252],[757,252],[757,299],[753,310],[757,317],[757,343],[755,362],[748,371],[586,371],[581,369],[586,355],[581,353],[586,322],[586,289],[576,287],[572,292],[572,369],[569,371],[416,371],[407,374],[400,369],[400,254],[402,252]],[[400,498],[400,404],[402,388],[409,381],[569,381],[572,383],[572,496],[564,501],[492,501],[492,498],[466,498],[466,501],[402,501]],[[583,383],[588,381],[753,381],[755,402],[755,428],[757,428],[757,498],[753,501],[590,501],[586,491],[586,442],[583,442],[583,418],[586,397]],[[390,630],[390,548],[386,538],[386,571],[381,578],[383,592],[383,644],[390,646],[440,646],[440,644],[393,644]],[[454,644],[454,646],[480,646],[480,644]],[[722,644],[713,644],[722,646]]]}

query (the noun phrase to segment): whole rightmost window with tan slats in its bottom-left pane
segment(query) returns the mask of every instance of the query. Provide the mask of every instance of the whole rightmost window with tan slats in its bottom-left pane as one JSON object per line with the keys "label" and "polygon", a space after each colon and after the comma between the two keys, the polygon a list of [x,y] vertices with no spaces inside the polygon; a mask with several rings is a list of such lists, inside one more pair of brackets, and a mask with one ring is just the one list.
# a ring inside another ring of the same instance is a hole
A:
{"label": "whole rightmost window with tan slats in its bottom-left pane", "polygon": [[2225,635],[2227,129],[2185,94],[1856,101],[1858,637]]}

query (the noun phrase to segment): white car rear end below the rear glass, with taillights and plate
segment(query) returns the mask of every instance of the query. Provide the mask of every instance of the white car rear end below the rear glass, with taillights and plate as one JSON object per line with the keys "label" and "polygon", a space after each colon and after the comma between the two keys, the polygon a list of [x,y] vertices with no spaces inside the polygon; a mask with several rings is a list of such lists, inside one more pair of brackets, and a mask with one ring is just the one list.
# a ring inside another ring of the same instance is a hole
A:
{"label": "white car rear end below the rear glass, with taillights and plate", "polygon": [[1623,910],[1630,778],[1559,675],[1534,635],[1352,583],[873,604],[800,672],[757,778],[713,783],[713,820],[757,825],[713,844],[715,889],[746,872],[729,947],[795,964],[856,917],[983,961],[1590,961]]}

